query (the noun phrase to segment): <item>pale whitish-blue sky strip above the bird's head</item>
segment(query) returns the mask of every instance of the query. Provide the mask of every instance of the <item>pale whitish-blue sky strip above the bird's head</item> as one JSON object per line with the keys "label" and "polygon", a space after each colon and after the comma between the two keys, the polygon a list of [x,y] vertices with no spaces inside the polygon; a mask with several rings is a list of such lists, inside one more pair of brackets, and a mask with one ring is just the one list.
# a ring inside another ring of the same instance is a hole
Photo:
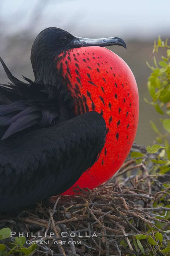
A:
{"label": "pale whitish-blue sky strip above the bird's head", "polygon": [[0,33],[60,27],[77,36],[123,39],[170,35],[169,0],[0,0]]}

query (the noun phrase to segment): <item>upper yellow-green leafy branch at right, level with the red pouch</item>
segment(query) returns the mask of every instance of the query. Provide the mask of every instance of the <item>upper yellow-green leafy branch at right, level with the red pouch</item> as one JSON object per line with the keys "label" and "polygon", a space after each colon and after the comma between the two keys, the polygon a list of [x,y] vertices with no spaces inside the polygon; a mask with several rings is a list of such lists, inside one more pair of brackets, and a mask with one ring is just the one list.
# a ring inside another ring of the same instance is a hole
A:
{"label": "upper yellow-green leafy branch at right, level with the red pouch", "polygon": [[[165,147],[160,145],[153,145],[152,147],[147,146],[147,152],[154,154],[161,149],[157,159],[152,159],[156,164],[159,164],[161,174],[165,174],[170,170],[170,145],[168,138],[170,136],[170,46],[168,46],[168,39],[163,42],[159,36],[157,44],[154,42],[153,53],[158,52],[159,48],[166,49],[166,55],[162,56],[162,60],[159,61],[159,65],[154,57],[155,67],[151,67],[147,62],[148,67],[152,70],[152,73],[148,79],[147,87],[152,97],[152,101],[149,102],[146,98],[145,101],[150,105],[153,105],[156,111],[160,115],[166,115],[165,118],[161,118],[160,121],[166,131],[162,134],[156,125],[151,121],[151,126],[156,132],[156,140],[159,143],[164,143]],[[162,159],[161,159],[162,158]]]}

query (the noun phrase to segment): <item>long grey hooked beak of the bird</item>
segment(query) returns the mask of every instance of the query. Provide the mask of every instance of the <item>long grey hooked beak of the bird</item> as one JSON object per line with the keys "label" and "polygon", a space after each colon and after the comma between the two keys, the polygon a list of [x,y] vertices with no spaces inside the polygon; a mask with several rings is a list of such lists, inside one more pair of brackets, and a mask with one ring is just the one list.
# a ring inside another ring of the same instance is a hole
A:
{"label": "long grey hooked beak of the bird", "polygon": [[126,49],[126,43],[120,37],[83,38],[74,36],[74,39],[71,41],[71,44],[77,47],[120,45]]}

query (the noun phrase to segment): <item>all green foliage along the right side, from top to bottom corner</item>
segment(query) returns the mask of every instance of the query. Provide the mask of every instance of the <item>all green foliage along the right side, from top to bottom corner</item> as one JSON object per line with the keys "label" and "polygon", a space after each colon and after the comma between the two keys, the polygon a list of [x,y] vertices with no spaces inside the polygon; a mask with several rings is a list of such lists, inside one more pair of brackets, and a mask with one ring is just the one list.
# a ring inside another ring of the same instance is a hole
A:
{"label": "all green foliage along the right side, from top to bottom corner", "polygon": [[[168,142],[170,136],[170,46],[168,46],[167,43],[168,39],[163,42],[159,36],[157,43],[156,41],[154,42],[153,53],[158,52],[159,48],[163,48],[166,49],[166,56],[162,56],[162,60],[159,61],[159,65],[157,64],[156,58],[154,57],[153,59],[155,67],[151,67],[147,62],[148,67],[152,70],[152,73],[149,76],[147,83],[148,91],[150,93],[150,96],[152,97],[152,101],[150,102],[146,98],[144,100],[150,105],[154,106],[154,108],[160,115],[166,115],[165,118],[160,119],[166,131],[165,134],[162,134],[158,130],[153,121],[150,122],[153,130],[157,134],[157,142],[162,144],[155,144],[153,146],[147,146],[146,148],[149,154],[153,154],[153,156],[151,157],[153,158],[151,159],[153,165],[149,172],[155,174],[158,170],[159,173],[156,177],[163,176],[170,170],[170,145]],[[142,161],[144,161],[142,159],[145,159],[146,162],[144,154],[142,156],[141,153],[140,155],[136,153],[131,152],[131,157],[135,157],[137,163],[142,163]],[[153,186],[153,184],[154,183],[152,183],[151,185]],[[165,187],[165,189],[162,188],[162,191],[160,190],[160,192],[158,193],[162,192],[166,195],[170,194],[169,183],[165,182],[163,186]],[[153,203],[153,207],[163,206],[163,202],[165,202],[164,196],[162,196],[160,202],[155,201]],[[170,205],[166,205],[165,207],[169,208]],[[166,215],[166,212],[164,213]],[[165,216],[160,216],[156,213],[153,215],[158,216],[157,218],[159,219],[163,219]],[[170,214],[168,214],[168,216],[166,215],[167,220],[169,219],[169,217]],[[162,236],[163,233],[165,235],[168,235],[170,233],[170,230],[164,229],[163,231],[163,226],[161,226],[159,222],[156,222],[155,226],[157,229],[150,227],[148,233],[134,236],[133,245],[135,247],[135,251],[137,253],[141,251],[142,255],[170,255],[169,238],[166,236],[167,239],[165,239],[165,236]],[[158,230],[160,232],[158,232]]]}

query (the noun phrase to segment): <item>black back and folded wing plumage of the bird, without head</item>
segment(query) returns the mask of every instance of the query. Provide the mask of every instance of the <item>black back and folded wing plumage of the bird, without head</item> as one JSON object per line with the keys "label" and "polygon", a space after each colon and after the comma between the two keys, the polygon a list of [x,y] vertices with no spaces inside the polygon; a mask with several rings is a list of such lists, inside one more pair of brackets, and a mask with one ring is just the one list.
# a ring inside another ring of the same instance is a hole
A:
{"label": "black back and folded wing plumage of the bird, without head", "polygon": [[97,161],[106,127],[93,111],[67,120],[55,87],[23,83],[0,61],[13,82],[0,85],[0,211],[9,211],[71,187]]}

